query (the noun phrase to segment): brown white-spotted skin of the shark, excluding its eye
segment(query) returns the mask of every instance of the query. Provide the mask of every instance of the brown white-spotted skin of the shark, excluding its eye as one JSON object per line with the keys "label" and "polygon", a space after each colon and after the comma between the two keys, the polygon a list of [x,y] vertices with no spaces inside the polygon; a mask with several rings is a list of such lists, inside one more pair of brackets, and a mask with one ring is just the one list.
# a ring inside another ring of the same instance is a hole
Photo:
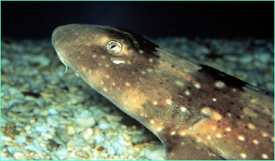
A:
{"label": "brown white-spotted skin of the shark, excluding its eye", "polygon": [[168,160],[274,160],[274,94],[123,29],[71,24],[52,41],[66,66],[159,137]]}

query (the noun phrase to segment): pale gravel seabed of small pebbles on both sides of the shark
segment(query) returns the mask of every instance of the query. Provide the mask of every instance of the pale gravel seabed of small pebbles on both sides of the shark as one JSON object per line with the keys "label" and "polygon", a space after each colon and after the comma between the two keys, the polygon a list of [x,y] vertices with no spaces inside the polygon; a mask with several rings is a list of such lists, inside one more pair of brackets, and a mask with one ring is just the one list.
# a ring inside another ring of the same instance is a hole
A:
{"label": "pale gravel seabed of small pebbles on both sides of the shark", "polygon": [[[274,40],[152,39],[274,93]],[[163,160],[161,142],[68,70],[49,39],[1,39],[1,160]]]}

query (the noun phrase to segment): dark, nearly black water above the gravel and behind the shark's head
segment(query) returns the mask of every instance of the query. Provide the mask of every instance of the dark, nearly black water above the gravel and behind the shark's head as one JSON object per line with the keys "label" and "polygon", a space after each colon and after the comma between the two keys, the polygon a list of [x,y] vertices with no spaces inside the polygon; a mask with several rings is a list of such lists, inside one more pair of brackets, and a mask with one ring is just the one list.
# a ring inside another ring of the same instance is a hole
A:
{"label": "dark, nearly black water above the gravel and behind the shark's head", "polygon": [[1,1],[2,37],[50,38],[68,23],[149,37],[274,39],[274,1]]}

